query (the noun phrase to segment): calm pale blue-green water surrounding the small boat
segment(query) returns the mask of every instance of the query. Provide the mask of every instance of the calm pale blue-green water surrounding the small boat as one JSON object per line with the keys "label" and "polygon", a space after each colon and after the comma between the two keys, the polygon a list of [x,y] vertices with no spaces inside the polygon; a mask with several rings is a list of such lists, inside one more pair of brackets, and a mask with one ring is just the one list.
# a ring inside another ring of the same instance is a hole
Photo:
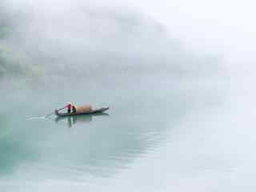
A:
{"label": "calm pale blue-green water surrounding the small boat", "polygon": [[[240,191],[254,186],[254,171],[246,166],[254,158],[242,158],[254,142],[241,135],[234,119],[239,112],[223,84],[217,77],[166,74],[3,81],[1,191]],[[40,118],[66,102],[110,110]]]}

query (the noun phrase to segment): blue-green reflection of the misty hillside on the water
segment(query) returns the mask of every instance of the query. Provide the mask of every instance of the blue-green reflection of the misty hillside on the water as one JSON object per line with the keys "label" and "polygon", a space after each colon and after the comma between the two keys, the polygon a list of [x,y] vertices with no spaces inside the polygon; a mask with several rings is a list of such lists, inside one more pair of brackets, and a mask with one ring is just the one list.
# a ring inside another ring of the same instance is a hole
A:
{"label": "blue-green reflection of the misty hillside on the water", "polygon": [[[158,149],[165,142],[166,131],[182,122],[186,113],[212,104],[204,98],[205,90],[196,86],[181,89],[174,81],[161,82],[160,78],[146,78],[144,82],[134,78],[134,82],[112,82],[107,87],[97,84],[97,89],[94,84],[77,83],[66,86],[72,94],[61,92],[60,83],[52,83],[52,88],[42,85],[38,90],[5,91],[10,97],[2,98],[6,110],[3,118],[0,116],[4,126],[0,150],[5,154],[0,161],[2,181],[95,182],[97,178],[111,178]],[[87,90],[81,90],[81,85]],[[26,120],[43,116],[66,101],[113,107],[110,116]],[[75,129],[63,129],[66,126]]]}

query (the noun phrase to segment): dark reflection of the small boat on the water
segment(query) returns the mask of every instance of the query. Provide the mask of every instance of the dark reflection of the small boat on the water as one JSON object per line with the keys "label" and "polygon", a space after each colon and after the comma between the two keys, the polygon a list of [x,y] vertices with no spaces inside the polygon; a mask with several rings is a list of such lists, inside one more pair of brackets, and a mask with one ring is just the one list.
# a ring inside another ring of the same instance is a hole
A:
{"label": "dark reflection of the small boat on the water", "polygon": [[109,114],[102,113],[102,114],[84,114],[84,115],[76,115],[71,117],[57,117],[55,118],[55,122],[66,121],[68,127],[75,126],[77,124],[85,124],[90,123],[93,121],[93,116],[109,116]]}

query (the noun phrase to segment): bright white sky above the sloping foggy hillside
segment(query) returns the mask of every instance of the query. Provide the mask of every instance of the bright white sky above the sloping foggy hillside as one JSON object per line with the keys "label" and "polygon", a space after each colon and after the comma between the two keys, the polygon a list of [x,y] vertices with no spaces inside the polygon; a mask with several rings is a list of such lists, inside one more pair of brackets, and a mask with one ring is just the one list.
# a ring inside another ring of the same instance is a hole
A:
{"label": "bright white sky above the sloping foggy hillside", "polygon": [[[143,3],[145,2],[145,4]],[[146,5],[146,6],[143,6]],[[224,52],[230,59],[254,60],[254,1],[139,1],[142,10],[169,26],[194,49]]]}

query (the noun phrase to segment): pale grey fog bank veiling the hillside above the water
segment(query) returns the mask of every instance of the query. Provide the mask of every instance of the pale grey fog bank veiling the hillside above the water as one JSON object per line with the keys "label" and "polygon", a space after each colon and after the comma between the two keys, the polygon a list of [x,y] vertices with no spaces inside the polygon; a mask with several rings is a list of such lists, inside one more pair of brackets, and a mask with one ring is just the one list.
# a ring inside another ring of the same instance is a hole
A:
{"label": "pale grey fog bank veiling the hillside above the water", "polygon": [[16,63],[35,75],[81,76],[101,74],[102,69],[140,73],[158,66],[159,73],[170,74],[205,75],[221,70],[222,54],[186,49],[164,22],[139,7],[126,8],[111,1],[10,1],[3,5],[14,22],[6,44]]}

